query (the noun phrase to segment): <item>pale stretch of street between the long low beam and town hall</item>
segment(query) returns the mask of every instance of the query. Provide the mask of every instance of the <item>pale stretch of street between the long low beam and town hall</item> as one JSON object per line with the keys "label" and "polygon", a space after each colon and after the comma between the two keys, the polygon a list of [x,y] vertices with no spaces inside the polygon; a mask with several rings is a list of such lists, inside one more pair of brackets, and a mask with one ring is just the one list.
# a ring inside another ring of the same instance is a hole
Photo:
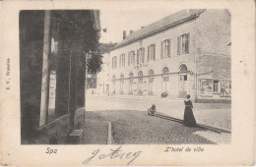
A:
{"label": "pale stretch of street between the long low beam and town hall", "polygon": [[[152,104],[157,106],[157,112],[167,116],[182,119],[184,102],[182,99],[141,99],[107,97],[88,94],[86,108],[96,110],[138,110],[147,111]],[[231,104],[230,103],[193,103],[194,116],[197,123],[231,131]]]}

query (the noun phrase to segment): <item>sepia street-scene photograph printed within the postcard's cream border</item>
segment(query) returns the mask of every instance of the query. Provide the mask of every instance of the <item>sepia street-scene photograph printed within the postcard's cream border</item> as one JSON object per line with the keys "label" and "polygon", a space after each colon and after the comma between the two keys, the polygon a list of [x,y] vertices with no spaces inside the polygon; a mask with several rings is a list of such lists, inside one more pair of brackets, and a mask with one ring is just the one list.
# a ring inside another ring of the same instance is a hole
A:
{"label": "sepia street-scene photograph printed within the postcard's cream border", "polygon": [[228,9],[21,10],[21,144],[229,144],[230,21]]}

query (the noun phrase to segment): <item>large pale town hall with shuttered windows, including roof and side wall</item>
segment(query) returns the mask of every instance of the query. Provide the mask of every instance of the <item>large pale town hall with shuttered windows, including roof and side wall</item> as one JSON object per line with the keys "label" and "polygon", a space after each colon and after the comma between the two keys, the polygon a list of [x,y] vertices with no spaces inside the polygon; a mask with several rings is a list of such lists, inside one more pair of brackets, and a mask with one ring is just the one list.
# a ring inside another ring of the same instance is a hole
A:
{"label": "large pale town hall with shuttered windows, including roof and side wall", "polygon": [[109,94],[230,99],[230,13],[182,10],[110,51]]}

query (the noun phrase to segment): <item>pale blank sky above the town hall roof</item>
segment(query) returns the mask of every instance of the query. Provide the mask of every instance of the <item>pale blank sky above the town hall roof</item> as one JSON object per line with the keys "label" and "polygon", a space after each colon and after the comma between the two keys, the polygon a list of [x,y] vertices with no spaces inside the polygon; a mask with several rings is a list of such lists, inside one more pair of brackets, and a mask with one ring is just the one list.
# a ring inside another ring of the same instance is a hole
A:
{"label": "pale blank sky above the town hall roof", "polygon": [[106,28],[106,32],[101,30],[99,42],[119,42],[123,37],[123,30],[126,34],[130,30],[138,30],[142,27],[153,24],[160,19],[169,16],[177,10],[169,9],[131,9],[131,10],[100,10],[101,29]]}

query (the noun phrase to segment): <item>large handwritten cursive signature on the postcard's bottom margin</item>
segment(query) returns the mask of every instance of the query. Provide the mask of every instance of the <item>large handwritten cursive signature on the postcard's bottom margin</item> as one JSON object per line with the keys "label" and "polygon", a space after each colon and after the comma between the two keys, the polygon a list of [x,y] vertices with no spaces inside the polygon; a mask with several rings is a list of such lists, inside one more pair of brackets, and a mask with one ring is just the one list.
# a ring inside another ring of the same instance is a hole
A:
{"label": "large handwritten cursive signature on the postcard's bottom margin", "polygon": [[[119,158],[129,160],[127,165],[131,164],[136,158],[138,158],[142,151],[137,152],[124,152],[121,150],[122,146],[119,146],[116,149],[110,149],[109,153],[101,153],[100,149],[96,149],[92,152],[92,156],[83,161],[83,164],[89,163],[92,159],[104,159],[109,157],[110,159]],[[99,153],[100,152],[100,153]]]}

